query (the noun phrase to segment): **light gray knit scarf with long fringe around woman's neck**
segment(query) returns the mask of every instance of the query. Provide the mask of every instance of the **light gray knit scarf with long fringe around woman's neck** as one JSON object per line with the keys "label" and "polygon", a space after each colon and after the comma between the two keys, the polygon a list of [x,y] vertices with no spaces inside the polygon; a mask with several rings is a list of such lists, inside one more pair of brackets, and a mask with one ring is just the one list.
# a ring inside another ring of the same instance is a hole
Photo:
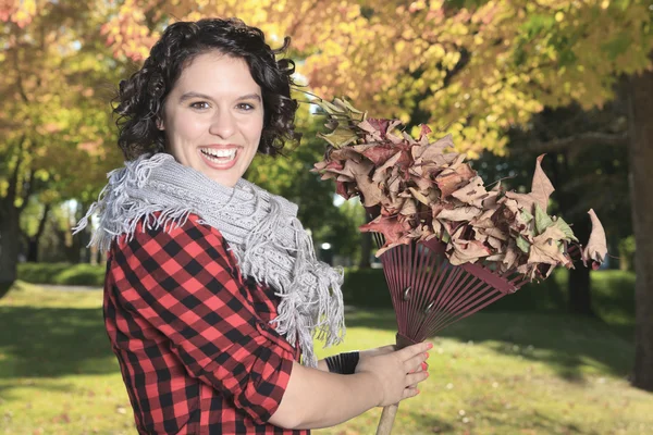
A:
{"label": "light gray knit scarf with long fringe around woman's neck", "polygon": [[[199,223],[224,236],[241,272],[269,285],[281,298],[279,315],[271,323],[291,345],[299,340],[305,365],[317,366],[313,336],[325,340],[325,346],[342,341],[343,271],[316,259],[295,203],[244,178],[233,188],[222,186],[168,153],[125,162],[108,178],[98,201],[74,228],[74,234],[82,231],[98,211],[99,227],[88,246],[108,250],[121,234],[131,239],[140,217],[146,217],[148,228],[153,220],[155,228],[170,232],[183,225],[188,214],[197,214]],[[152,213],[159,211],[156,217]]]}

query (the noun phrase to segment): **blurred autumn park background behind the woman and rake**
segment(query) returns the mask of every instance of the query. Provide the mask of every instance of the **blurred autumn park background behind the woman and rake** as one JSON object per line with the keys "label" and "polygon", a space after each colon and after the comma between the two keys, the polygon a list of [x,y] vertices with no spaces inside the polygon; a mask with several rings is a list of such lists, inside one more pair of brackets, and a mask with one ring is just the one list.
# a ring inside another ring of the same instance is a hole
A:
{"label": "blurred autumn park background behind the woman and rake", "polygon": [[[104,254],[72,236],[123,162],[111,100],[167,25],[237,16],[286,57],[304,91],[370,117],[452,134],[489,185],[529,191],[603,270],[556,271],[445,330],[397,434],[653,433],[653,1],[0,1],[0,434],[133,434],[102,323]],[[297,91],[300,145],[246,177],[299,204],[319,256],[346,266],[336,351],[394,341],[382,270],[355,200],[309,170],[324,120]],[[372,410],[323,434],[370,434]]]}

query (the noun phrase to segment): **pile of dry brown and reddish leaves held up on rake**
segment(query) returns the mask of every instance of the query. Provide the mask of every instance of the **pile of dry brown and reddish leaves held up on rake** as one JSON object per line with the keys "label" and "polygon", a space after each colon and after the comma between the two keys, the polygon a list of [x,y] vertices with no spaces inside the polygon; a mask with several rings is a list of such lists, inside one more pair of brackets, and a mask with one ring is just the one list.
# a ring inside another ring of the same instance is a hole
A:
{"label": "pile of dry brown and reddish leaves held up on rake", "polygon": [[480,262],[529,281],[546,278],[557,265],[572,268],[574,246],[593,269],[605,259],[605,233],[593,210],[584,248],[562,217],[547,214],[554,188],[541,167],[544,154],[537,159],[529,194],[505,191],[501,183],[488,190],[466,156],[454,151],[451,135],[431,141],[431,129],[422,125],[415,139],[397,130],[401,121],[368,119],[344,99],[317,104],[330,133],[319,134],[329,147],[312,171],[335,178],[337,194],[358,196],[375,215],[360,231],[384,236],[377,257],[436,237],[453,265]]}

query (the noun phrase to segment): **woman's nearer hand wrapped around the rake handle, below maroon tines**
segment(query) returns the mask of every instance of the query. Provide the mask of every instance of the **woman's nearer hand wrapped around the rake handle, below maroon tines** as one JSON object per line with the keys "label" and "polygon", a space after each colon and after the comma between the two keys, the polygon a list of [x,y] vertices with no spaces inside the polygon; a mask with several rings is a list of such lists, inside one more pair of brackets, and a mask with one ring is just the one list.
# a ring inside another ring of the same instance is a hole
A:
{"label": "woman's nearer hand wrapped around the rake handle, below maroon tines", "polygon": [[417,384],[424,381],[427,350],[433,347],[430,343],[420,343],[402,350],[394,346],[384,346],[360,352],[356,373],[371,373],[378,382],[381,400],[380,407],[397,403],[419,393]]}

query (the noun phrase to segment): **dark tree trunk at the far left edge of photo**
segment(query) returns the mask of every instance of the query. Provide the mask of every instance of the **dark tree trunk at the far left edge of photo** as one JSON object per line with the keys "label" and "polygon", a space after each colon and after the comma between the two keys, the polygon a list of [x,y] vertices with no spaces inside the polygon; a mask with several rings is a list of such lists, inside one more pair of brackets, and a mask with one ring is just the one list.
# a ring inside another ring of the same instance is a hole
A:
{"label": "dark tree trunk at the far left edge of photo", "polygon": [[20,232],[19,210],[7,199],[0,200],[0,298],[16,281]]}

